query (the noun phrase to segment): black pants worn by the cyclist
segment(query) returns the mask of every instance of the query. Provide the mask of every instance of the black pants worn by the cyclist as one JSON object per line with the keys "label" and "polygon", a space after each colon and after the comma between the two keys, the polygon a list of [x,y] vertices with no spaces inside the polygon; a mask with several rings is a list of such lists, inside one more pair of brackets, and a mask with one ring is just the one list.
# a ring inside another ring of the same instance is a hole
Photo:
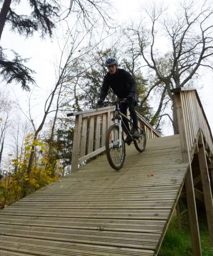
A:
{"label": "black pants worn by the cyclist", "polygon": [[[125,116],[127,116],[127,109],[129,108],[130,116],[131,116],[132,122],[133,122],[133,130],[136,129],[137,126],[138,126],[137,114],[136,114],[136,111],[135,111],[135,105],[136,105],[135,100],[132,100],[128,104],[120,103],[120,105],[119,105],[121,113],[123,113]],[[129,122],[125,119],[125,117],[122,117],[122,120],[124,122],[124,125],[122,124],[122,128],[125,131],[125,133],[128,134],[128,132],[126,132],[126,128],[128,129],[128,131],[130,130]]]}

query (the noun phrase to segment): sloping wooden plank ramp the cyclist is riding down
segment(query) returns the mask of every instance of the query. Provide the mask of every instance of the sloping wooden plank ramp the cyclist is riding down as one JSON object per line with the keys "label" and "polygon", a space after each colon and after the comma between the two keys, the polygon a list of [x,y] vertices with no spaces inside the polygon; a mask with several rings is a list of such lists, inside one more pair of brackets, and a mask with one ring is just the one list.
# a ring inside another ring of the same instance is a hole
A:
{"label": "sloping wooden plank ramp the cyclist is riding down", "polygon": [[187,172],[179,135],[126,147],[0,211],[0,256],[154,256]]}

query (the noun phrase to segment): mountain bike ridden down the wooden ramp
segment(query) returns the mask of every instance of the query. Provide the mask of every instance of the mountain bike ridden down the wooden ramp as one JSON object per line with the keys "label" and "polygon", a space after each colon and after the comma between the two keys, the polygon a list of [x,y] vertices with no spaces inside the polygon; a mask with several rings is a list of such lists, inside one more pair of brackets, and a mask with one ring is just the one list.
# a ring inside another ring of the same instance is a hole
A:
{"label": "mountain bike ridden down the wooden ramp", "polygon": [[[145,150],[146,146],[146,132],[145,132],[145,125],[143,121],[138,117],[138,131],[140,132],[140,137],[137,139],[133,139],[132,134],[132,126],[133,122],[131,117],[128,118],[123,113],[120,112],[119,103],[126,103],[126,99],[120,99],[118,101],[105,101],[103,102],[104,106],[114,105],[115,106],[115,114],[112,118],[112,122],[114,122],[109,128],[106,133],[105,139],[105,149],[108,162],[110,166],[115,169],[119,170],[125,161],[125,140],[123,136],[123,128],[125,128],[125,133],[131,138],[133,141],[135,148],[137,151],[142,152]],[[129,122],[130,131],[125,127],[125,124],[122,120],[122,117],[125,118]]]}

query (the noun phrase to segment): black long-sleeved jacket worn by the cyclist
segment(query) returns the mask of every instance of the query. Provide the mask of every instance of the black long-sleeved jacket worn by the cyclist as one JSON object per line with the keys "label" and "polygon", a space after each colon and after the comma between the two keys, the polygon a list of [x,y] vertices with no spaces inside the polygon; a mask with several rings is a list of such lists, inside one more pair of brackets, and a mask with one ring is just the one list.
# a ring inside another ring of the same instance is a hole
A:
{"label": "black long-sleeved jacket worn by the cyclist", "polygon": [[126,70],[118,68],[116,73],[111,75],[109,72],[105,75],[101,87],[100,99],[104,100],[107,96],[109,87],[114,91],[119,99],[124,99],[131,95],[137,101],[136,82],[132,75]]}

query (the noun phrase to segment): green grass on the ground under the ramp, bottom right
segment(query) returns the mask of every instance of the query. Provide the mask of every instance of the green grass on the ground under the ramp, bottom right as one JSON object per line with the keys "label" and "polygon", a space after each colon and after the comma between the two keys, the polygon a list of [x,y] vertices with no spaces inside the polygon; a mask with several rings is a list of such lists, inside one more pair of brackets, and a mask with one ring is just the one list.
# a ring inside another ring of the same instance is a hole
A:
{"label": "green grass on the ground under the ramp, bottom right", "polygon": [[[202,256],[213,256],[213,247],[205,217],[199,219],[199,230],[201,239]],[[174,216],[169,224],[168,230],[162,241],[158,256],[192,256],[190,228],[187,220],[187,212],[181,215],[182,229],[179,230],[178,219]]]}

